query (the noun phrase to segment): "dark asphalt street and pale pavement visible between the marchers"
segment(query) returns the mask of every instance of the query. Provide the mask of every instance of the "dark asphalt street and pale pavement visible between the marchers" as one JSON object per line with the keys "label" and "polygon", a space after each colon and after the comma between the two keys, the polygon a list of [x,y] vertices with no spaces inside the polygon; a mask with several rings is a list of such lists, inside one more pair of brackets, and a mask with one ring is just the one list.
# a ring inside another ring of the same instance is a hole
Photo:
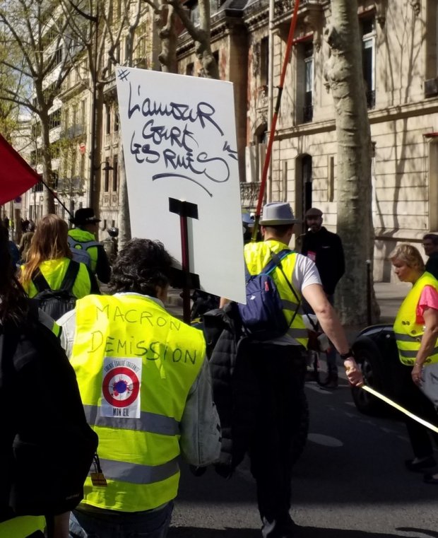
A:
{"label": "dark asphalt street and pale pavement visible between the marchers", "polygon": [[[408,286],[375,283],[374,290],[381,321],[392,322]],[[181,313],[178,293],[170,296]],[[306,394],[309,436],[292,477],[297,538],[438,538],[438,486],[406,471],[412,454],[403,422],[360,414],[345,378],[333,391],[308,382]],[[260,527],[247,460],[230,480],[211,467],[195,477],[182,465],[169,538],[261,538]]]}

